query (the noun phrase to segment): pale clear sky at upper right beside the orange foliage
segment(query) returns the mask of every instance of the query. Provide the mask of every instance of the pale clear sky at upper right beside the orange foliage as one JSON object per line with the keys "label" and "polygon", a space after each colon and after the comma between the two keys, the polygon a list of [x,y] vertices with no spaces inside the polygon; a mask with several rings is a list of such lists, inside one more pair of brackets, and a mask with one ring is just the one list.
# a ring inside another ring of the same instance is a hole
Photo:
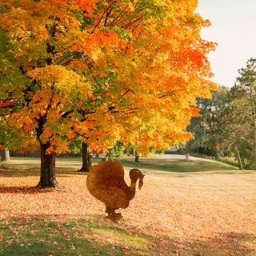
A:
{"label": "pale clear sky at upper right beside the orange foliage", "polygon": [[196,10],[212,26],[204,28],[202,38],[218,42],[208,55],[213,82],[232,87],[238,70],[256,58],[256,0],[198,0]]}

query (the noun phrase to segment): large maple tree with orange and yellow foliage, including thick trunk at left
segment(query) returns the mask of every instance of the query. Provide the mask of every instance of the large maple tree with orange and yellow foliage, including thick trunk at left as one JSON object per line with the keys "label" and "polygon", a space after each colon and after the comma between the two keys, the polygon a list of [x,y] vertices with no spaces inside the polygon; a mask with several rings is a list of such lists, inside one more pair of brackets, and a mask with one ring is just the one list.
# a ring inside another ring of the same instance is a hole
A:
{"label": "large maple tree with orange and yellow foliage, including thick trunk at left", "polygon": [[143,154],[192,138],[195,98],[216,88],[197,3],[0,0],[0,141],[41,146],[38,186],[58,186],[55,154],[78,135],[94,150],[141,142]]}

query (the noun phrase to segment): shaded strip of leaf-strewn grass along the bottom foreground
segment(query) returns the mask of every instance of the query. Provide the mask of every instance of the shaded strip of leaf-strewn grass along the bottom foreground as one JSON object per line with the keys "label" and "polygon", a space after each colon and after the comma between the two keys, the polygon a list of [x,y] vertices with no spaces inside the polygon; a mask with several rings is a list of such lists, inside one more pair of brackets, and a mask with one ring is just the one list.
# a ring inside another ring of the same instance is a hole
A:
{"label": "shaded strip of leaf-strewn grass along the bottom foreground", "polygon": [[102,215],[23,216],[2,220],[0,227],[0,254],[6,256],[255,255],[253,234],[218,233],[210,237],[195,235],[193,239],[162,236],[127,221],[103,221]]}

